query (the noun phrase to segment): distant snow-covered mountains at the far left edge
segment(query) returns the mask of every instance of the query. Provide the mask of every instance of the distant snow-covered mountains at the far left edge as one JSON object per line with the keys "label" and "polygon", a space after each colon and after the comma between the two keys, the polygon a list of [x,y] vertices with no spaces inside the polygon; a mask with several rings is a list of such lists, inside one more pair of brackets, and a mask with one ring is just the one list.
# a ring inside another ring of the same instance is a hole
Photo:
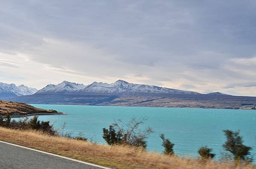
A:
{"label": "distant snow-covered mountains at the far left edge", "polygon": [[15,84],[7,84],[0,82],[0,98],[8,98],[15,96],[32,95],[37,89],[27,87],[25,85],[16,86]]}

